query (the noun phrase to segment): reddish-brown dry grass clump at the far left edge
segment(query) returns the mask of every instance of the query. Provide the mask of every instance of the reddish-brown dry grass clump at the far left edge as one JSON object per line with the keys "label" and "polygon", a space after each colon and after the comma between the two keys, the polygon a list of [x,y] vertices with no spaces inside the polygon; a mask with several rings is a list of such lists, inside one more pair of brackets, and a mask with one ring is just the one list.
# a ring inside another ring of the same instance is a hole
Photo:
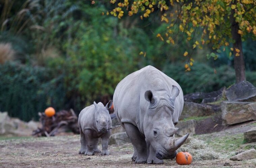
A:
{"label": "reddish-brown dry grass clump at the far left edge", "polygon": [[12,49],[10,43],[0,43],[0,64],[13,60],[14,55],[15,51]]}

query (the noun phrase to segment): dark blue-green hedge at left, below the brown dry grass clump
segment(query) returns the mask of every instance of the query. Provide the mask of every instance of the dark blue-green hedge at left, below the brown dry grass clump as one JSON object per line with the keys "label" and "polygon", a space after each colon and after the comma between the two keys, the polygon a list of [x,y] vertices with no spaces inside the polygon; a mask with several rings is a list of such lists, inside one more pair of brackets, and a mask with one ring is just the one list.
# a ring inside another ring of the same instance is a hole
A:
{"label": "dark blue-green hedge at left, below the brown dry grass clump", "polygon": [[0,65],[0,111],[24,121],[38,119],[38,112],[64,107],[63,76],[52,77],[45,68],[15,63]]}

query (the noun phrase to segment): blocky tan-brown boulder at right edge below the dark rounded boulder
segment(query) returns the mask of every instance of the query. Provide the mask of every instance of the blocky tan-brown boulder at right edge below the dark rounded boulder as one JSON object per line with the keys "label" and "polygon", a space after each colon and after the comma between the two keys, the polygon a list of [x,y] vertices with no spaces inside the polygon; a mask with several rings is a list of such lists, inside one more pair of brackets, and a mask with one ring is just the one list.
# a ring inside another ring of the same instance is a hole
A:
{"label": "blocky tan-brown boulder at right edge below the dark rounded boulder", "polygon": [[224,125],[256,120],[256,102],[223,101],[221,110]]}

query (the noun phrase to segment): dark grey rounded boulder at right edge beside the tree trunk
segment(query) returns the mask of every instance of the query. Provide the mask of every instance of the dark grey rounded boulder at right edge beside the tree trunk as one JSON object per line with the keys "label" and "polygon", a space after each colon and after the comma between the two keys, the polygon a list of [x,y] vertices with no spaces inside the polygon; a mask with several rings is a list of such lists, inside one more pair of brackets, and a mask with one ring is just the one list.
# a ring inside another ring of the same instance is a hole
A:
{"label": "dark grey rounded boulder at right edge beside the tree trunk", "polygon": [[256,88],[248,81],[232,85],[226,93],[229,101],[256,101]]}

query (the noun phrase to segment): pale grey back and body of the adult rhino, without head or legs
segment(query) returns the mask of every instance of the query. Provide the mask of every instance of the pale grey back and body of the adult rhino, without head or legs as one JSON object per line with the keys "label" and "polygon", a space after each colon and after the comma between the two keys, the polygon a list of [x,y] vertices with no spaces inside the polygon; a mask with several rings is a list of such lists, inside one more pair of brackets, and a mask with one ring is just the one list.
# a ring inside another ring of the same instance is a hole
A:
{"label": "pale grey back and body of the adult rhino, without head or legs", "polygon": [[[178,97],[175,99],[175,115],[180,116],[183,109],[183,93],[179,84],[165,75],[158,69],[147,66],[126,76],[116,87],[113,103],[119,122],[129,122],[142,129],[141,122],[144,117],[149,102],[146,101],[145,91],[163,90],[171,96],[172,85],[180,90]],[[142,130],[140,130],[143,132]]]}

